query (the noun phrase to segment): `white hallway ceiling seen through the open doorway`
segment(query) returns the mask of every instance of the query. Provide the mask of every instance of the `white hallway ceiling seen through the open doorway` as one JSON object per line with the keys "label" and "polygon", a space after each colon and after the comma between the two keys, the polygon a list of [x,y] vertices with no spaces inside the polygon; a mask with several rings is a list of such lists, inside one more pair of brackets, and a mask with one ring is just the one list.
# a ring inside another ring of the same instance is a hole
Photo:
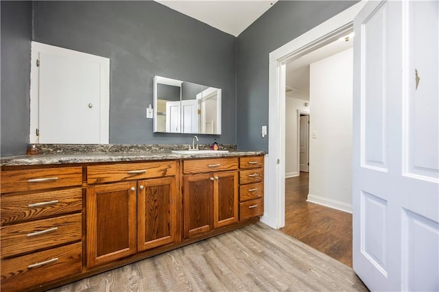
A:
{"label": "white hallway ceiling seen through the open doorway", "polygon": [[309,100],[309,64],[333,56],[351,47],[353,47],[352,36],[347,42],[345,40],[335,40],[288,63],[285,69],[285,85],[287,90],[291,89],[291,91],[287,92],[286,96]]}

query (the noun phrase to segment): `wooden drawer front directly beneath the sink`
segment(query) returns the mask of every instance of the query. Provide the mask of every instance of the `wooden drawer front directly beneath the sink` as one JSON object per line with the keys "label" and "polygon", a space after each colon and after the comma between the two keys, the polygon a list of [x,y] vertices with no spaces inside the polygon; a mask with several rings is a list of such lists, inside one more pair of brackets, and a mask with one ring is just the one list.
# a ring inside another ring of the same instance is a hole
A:
{"label": "wooden drawer front directly beneath the sink", "polygon": [[184,173],[202,173],[238,169],[238,158],[215,158],[183,161]]}

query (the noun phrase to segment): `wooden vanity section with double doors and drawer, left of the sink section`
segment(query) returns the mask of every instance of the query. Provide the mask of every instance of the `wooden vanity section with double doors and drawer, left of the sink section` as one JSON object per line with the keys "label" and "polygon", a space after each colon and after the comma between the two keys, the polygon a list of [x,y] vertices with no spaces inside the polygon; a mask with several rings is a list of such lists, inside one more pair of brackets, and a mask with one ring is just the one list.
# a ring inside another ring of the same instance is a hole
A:
{"label": "wooden vanity section with double doors and drawer, left of the sink section", "polygon": [[88,268],[178,242],[176,171],[175,160],[87,168]]}

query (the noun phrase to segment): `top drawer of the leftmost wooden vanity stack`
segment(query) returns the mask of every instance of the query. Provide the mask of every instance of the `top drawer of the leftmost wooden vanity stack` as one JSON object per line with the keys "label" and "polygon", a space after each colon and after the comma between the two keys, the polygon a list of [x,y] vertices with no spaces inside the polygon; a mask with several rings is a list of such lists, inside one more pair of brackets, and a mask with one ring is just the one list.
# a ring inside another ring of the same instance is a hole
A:
{"label": "top drawer of the leftmost wooden vanity stack", "polygon": [[81,185],[82,167],[23,169],[1,172],[1,193]]}

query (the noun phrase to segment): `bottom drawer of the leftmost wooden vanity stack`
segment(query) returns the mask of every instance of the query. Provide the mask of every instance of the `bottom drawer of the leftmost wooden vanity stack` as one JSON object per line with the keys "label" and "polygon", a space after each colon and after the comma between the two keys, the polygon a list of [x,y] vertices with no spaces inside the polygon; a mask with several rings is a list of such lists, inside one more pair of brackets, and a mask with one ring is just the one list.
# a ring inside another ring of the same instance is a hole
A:
{"label": "bottom drawer of the leftmost wooden vanity stack", "polygon": [[82,244],[1,261],[1,291],[23,291],[45,282],[81,273]]}

